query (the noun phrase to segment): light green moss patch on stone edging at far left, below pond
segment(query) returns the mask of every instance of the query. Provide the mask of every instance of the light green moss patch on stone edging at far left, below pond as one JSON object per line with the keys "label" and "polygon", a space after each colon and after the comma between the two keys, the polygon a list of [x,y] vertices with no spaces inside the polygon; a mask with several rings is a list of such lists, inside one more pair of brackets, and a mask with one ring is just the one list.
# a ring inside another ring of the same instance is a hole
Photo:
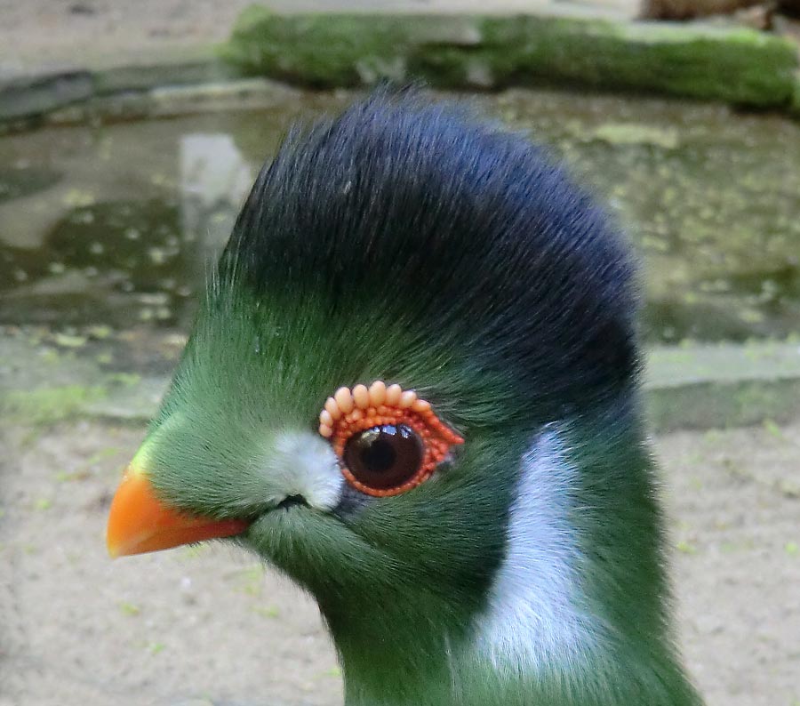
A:
{"label": "light green moss patch on stone edging at far left, below pond", "polygon": [[52,424],[81,413],[86,405],[106,396],[107,390],[100,386],[12,389],[0,399],[0,415],[17,423]]}

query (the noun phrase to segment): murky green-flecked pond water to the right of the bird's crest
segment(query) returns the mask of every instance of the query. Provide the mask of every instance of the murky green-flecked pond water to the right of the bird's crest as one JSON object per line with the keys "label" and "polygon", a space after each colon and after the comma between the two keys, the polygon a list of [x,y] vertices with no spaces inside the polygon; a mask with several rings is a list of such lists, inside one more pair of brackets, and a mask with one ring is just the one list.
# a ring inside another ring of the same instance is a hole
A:
{"label": "murky green-flecked pond water to the right of the bird's crest", "polygon": [[649,340],[796,330],[800,126],[662,100],[514,92],[500,105],[606,197],[633,237]]}

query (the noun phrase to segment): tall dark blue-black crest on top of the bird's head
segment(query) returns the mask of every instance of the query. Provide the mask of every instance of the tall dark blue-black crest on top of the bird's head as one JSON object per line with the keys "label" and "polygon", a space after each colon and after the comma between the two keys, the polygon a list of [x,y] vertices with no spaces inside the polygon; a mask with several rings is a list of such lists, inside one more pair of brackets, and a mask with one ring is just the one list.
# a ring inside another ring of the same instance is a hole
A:
{"label": "tall dark blue-black crest on top of the bird's head", "polygon": [[446,332],[476,365],[535,389],[542,417],[636,377],[632,267],[604,212],[524,136],[415,92],[378,92],[293,132],[223,270],[232,261],[260,292],[380,306],[430,339]]}

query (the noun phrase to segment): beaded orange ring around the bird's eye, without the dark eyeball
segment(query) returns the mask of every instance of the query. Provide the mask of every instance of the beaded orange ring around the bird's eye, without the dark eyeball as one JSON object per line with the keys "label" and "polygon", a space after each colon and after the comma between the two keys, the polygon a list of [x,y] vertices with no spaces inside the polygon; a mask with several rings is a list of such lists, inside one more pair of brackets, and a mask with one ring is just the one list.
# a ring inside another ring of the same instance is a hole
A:
{"label": "beaded orange ring around the bird's eye, without the dark eyeball", "polygon": [[[380,434],[383,429],[411,429],[422,446],[421,460],[416,468],[404,474],[402,482],[390,487],[374,487],[359,479],[345,463],[345,446],[356,435],[366,431]],[[325,401],[319,415],[319,433],[331,440],[333,451],[340,459],[342,475],[356,490],[375,497],[388,497],[411,490],[430,477],[454,445],[464,439],[436,416],[424,399],[412,389],[375,381],[367,388],[337,389]]]}

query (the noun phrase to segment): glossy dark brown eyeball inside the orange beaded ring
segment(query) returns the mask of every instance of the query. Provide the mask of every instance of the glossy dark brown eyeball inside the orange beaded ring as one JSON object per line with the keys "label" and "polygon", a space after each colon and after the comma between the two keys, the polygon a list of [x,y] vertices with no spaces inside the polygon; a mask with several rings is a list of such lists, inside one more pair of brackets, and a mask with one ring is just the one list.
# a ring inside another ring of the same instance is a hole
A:
{"label": "glossy dark brown eyeball inside the orange beaded ring", "polygon": [[364,485],[379,490],[395,488],[420,469],[420,437],[406,424],[365,429],[345,445],[344,462]]}

